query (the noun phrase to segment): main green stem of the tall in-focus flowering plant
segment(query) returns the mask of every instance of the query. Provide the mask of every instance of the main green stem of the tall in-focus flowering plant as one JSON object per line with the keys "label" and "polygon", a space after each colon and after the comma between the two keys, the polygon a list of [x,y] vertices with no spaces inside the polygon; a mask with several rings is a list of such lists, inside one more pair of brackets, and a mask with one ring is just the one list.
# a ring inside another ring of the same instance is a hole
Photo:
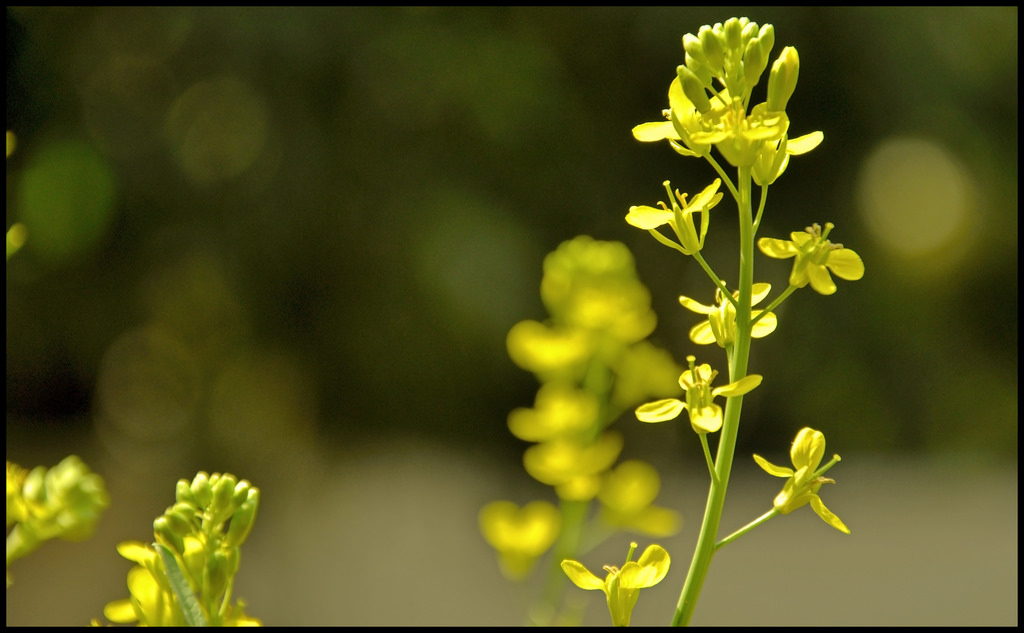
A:
{"label": "main green stem of the tall in-focus flowering plant", "polygon": [[[751,354],[751,288],[754,284],[754,220],[751,210],[751,169],[740,167],[738,176],[739,208],[739,297],[736,306],[736,340],[732,354],[729,357],[729,381],[735,382],[746,376],[746,364]],[[736,395],[725,403],[725,415],[722,423],[722,436],[718,444],[718,457],[715,467],[718,478],[712,479],[708,493],[708,504],[705,508],[703,521],[700,524],[700,536],[697,537],[696,549],[690,562],[676,614],[672,619],[673,626],[687,625],[693,616],[697,598],[703,587],[712,556],[715,555],[715,541],[719,523],[722,520],[722,509],[725,507],[725,493],[729,487],[729,475],[732,472],[732,459],[736,451],[736,437],[739,431],[739,413],[743,397]]]}

